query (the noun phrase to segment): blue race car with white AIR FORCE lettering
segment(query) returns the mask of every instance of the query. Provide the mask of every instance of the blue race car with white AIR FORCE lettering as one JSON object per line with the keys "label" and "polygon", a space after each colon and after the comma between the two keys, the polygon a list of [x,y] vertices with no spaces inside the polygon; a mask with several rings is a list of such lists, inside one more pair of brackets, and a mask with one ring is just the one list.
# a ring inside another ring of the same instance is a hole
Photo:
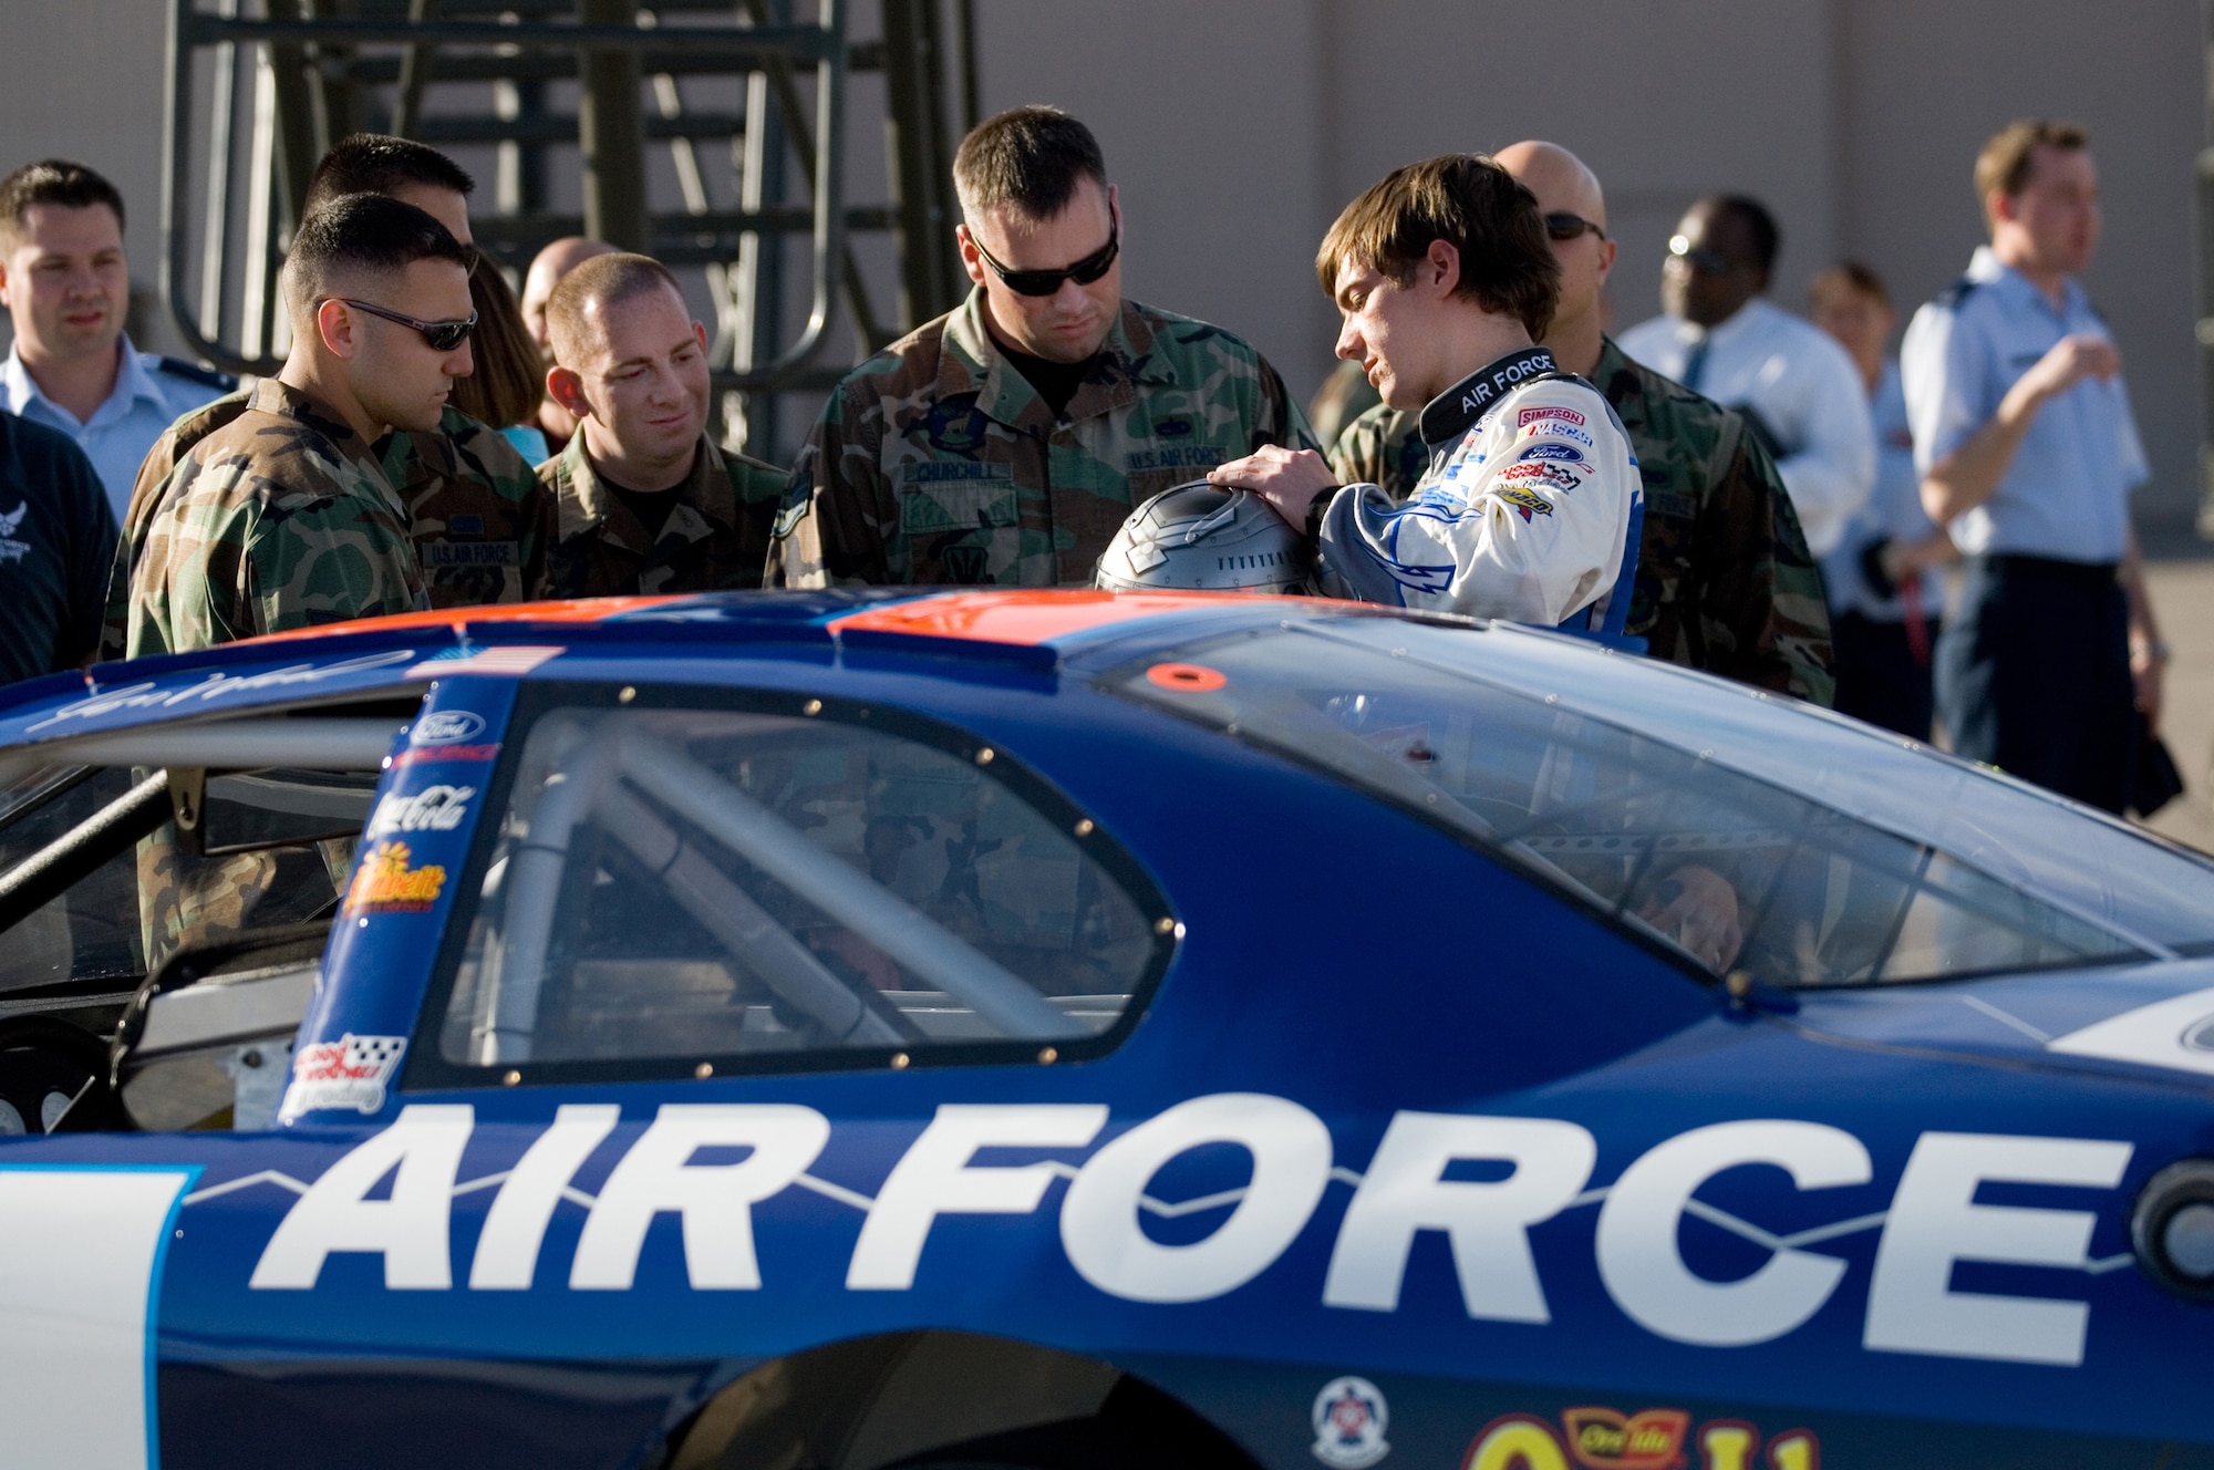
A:
{"label": "blue race car with white AIR FORCE lettering", "polygon": [[100,666],[0,932],[9,1466],[2214,1466],[2214,868],[1554,633]]}

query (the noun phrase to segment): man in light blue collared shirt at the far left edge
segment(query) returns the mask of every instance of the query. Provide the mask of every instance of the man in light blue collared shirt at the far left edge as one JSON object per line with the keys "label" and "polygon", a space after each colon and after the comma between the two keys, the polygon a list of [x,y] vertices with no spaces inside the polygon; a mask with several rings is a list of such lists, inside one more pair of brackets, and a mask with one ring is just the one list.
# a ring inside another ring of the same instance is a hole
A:
{"label": "man in light blue collared shirt at the far left edge", "polygon": [[117,520],[153,441],[237,387],[131,345],[124,201],[82,164],[46,159],[0,179],[0,299],[15,330],[0,407],[75,441]]}

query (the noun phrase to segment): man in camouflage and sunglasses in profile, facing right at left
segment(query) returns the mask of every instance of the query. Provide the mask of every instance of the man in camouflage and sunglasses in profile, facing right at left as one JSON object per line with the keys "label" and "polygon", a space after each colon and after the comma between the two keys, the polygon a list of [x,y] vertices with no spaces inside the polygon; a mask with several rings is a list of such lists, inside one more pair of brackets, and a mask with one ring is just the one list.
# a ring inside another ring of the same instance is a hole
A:
{"label": "man in camouflage and sunglasses in profile, facing right at left", "polygon": [[301,226],[283,290],[283,370],[177,463],[146,527],[131,658],[430,604],[370,441],[434,432],[469,372],[469,255],[412,204],[348,195]]}

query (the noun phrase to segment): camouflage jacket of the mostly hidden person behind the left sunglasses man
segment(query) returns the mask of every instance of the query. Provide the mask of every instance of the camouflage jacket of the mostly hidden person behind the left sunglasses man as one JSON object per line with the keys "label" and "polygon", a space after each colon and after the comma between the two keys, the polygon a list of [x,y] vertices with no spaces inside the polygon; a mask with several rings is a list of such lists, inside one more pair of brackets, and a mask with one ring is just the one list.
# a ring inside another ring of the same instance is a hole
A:
{"label": "camouflage jacket of the mostly hidden person behind the left sunglasses man", "polygon": [[[108,571],[100,658],[124,658],[131,613],[131,569],[146,553],[146,531],[168,500],[177,463],[208,434],[235,423],[250,394],[235,392],[193,410],[155,441],[131,487],[122,542]],[[399,429],[376,441],[385,480],[407,507],[410,536],[432,607],[529,602],[547,593],[554,545],[554,500],[507,438],[458,407],[447,407],[438,434]]]}

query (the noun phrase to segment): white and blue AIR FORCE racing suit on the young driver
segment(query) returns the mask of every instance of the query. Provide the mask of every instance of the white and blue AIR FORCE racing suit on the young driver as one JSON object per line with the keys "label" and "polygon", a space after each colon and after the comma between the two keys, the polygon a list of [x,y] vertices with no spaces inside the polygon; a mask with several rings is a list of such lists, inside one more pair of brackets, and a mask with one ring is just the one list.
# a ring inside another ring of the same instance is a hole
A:
{"label": "white and blue AIR FORCE racing suit on the young driver", "polygon": [[1421,438],[1406,505],[1377,485],[1331,498],[1328,596],[1621,635],[1645,489],[1596,387],[1525,348],[1432,398]]}

